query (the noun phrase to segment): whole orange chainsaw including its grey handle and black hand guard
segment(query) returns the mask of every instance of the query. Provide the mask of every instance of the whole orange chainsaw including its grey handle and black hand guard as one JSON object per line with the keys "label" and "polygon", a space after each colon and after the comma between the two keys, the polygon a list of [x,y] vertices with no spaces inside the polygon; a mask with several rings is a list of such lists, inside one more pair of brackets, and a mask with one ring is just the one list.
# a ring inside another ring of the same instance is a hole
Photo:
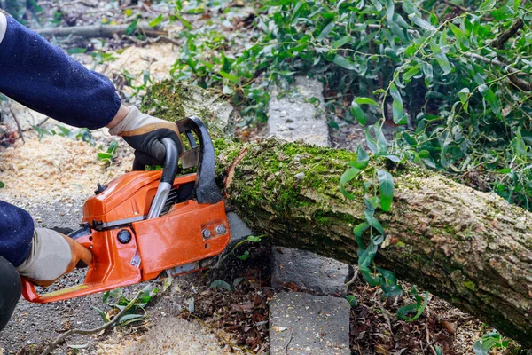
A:
{"label": "whole orange chainsaw including its grey handle and black hand guard", "polygon": [[85,280],[41,295],[22,278],[27,301],[60,301],[214,264],[231,238],[215,184],[215,148],[199,118],[176,123],[188,141],[181,166],[196,167],[196,172],[176,176],[176,144],[163,138],[163,170],[145,170],[135,160],[133,171],[108,185],[98,184],[83,205],[81,228],[68,234],[92,253]]}

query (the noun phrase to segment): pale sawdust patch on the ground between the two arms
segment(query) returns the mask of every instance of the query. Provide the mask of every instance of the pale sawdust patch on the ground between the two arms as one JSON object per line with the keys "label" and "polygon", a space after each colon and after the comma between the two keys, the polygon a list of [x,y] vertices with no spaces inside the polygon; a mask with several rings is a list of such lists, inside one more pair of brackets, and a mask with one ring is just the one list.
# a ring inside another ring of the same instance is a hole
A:
{"label": "pale sawdust patch on the ground between the two arms", "polygon": [[[120,149],[120,148],[119,148]],[[96,185],[106,184],[130,170],[131,157],[105,169],[97,159],[98,147],[59,136],[26,138],[0,151],[0,199],[62,201],[88,196]]]}

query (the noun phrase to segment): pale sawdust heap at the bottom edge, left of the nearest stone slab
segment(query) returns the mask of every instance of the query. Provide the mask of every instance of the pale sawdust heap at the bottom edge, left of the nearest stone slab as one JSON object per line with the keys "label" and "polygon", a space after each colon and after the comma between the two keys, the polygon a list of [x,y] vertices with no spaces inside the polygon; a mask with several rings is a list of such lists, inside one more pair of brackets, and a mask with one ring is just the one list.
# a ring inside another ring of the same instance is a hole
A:
{"label": "pale sawdust heap at the bottom edge, left of the nearest stone slab", "polygon": [[[224,347],[218,337],[197,321],[180,318],[162,319],[145,335],[112,337],[98,345],[106,355],[197,355],[235,353]],[[239,352],[236,352],[239,353]]]}

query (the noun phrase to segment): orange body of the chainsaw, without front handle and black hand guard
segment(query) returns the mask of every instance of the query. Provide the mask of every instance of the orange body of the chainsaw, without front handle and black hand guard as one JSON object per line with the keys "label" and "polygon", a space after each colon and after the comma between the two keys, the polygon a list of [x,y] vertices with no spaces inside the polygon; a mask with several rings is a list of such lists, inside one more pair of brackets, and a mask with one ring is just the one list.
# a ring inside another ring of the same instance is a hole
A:
{"label": "orange body of the chainsaw, without front handle and black hand guard", "polygon": [[176,177],[159,217],[146,218],[161,173],[131,171],[90,197],[83,206],[84,228],[70,234],[93,256],[84,282],[39,295],[23,279],[25,298],[48,303],[152,280],[172,268],[197,271],[196,262],[222,253],[230,241],[223,200],[200,203],[192,194],[180,196],[198,185],[196,173]]}

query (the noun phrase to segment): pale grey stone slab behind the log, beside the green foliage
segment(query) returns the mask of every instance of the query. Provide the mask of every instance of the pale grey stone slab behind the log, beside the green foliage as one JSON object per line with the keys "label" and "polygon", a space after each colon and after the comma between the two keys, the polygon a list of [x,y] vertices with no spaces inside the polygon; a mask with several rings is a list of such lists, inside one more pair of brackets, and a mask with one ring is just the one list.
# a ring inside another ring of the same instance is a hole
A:
{"label": "pale grey stone slab behind the log, beside the green foliage", "polygon": [[[324,114],[323,84],[306,76],[297,76],[292,89],[293,93],[289,92],[279,99],[275,90],[270,95],[270,136],[290,142],[330,146],[329,125]],[[312,101],[316,101],[317,106]]]}

